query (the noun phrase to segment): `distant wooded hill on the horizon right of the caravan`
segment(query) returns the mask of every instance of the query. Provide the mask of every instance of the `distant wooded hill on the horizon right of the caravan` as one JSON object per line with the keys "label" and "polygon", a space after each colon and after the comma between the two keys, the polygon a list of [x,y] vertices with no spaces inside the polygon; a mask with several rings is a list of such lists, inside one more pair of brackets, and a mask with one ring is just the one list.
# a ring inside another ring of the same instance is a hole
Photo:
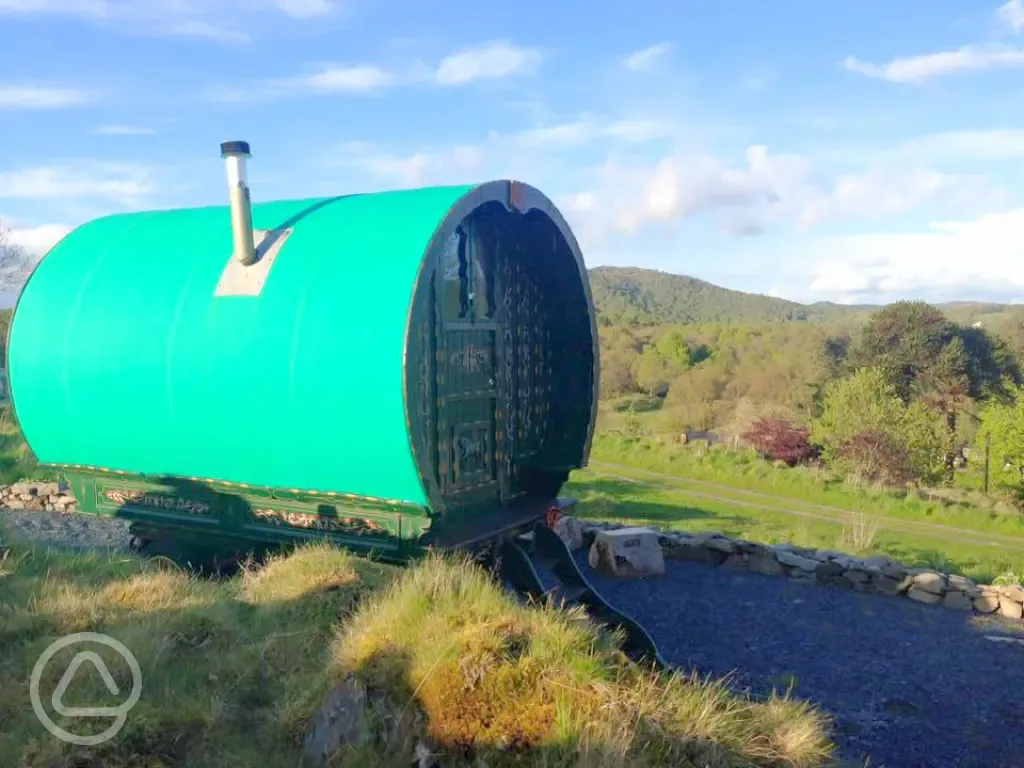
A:
{"label": "distant wooded hill on the horizon right of the caravan", "polygon": [[[598,316],[629,325],[698,323],[837,323],[863,319],[880,305],[801,304],[772,296],[732,291],[684,274],[639,267],[599,266],[589,270]],[[985,325],[1019,312],[1016,304],[954,301],[937,304],[950,319]]]}

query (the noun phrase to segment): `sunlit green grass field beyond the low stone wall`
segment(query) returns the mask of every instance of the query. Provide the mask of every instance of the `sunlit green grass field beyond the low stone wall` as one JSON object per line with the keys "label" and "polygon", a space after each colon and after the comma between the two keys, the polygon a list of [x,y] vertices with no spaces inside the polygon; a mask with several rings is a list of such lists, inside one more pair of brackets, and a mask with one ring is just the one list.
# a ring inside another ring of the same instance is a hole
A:
{"label": "sunlit green grass field beyond the low stone wall", "polygon": [[[592,469],[574,473],[564,493],[575,496],[581,515],[591,519],[887,554],[982,582],[1024,573],[1020,515],[849,487],[825,473],[775,467],[752,454],[599,436]],[[947,527],[966,532],[944,534]]]}

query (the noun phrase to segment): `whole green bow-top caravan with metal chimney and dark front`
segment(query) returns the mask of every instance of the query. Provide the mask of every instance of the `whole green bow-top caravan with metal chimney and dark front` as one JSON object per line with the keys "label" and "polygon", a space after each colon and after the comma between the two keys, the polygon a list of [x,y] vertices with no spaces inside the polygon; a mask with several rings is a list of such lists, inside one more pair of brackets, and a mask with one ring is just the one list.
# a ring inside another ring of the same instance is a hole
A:
{"label": "whole green bow-top caravan with metal chimney and dark front", "polygon": [[385,556],[543,515],[598,352],[568,225],[515,181],[108,216],[39,263],[8,375],[41,464],[141,531]]}

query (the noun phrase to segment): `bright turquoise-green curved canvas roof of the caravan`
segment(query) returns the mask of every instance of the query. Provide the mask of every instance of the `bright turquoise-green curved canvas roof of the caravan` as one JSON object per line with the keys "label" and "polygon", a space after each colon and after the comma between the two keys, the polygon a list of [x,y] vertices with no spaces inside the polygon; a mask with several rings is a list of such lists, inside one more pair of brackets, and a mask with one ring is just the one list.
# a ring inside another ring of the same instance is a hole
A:
{"label": "bright turquoise-green curved canvas roof of the caravan", "polygon": [[414,291],[435,239],[516,187],[550,205],[508,181],[253,205],[254,228],[291,228],[255,296],[214,295],[227,206],[78,227],[11,322],[30,446],[44,464],[427,505],[403,391]]}

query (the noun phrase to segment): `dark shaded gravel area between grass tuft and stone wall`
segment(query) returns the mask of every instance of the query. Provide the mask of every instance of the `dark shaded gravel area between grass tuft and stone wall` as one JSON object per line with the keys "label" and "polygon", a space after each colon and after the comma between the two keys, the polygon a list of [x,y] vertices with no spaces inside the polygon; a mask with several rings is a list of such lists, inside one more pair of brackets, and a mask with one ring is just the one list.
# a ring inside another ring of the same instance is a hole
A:
{"label": "dark shaded gravel area between grass tuft and stone wall", "polygon": [[664,579],[593,586],[665,658],[755,695],[794,685],[871,768],[1024,768],[1020,623],[906,599],[669,561]]}

